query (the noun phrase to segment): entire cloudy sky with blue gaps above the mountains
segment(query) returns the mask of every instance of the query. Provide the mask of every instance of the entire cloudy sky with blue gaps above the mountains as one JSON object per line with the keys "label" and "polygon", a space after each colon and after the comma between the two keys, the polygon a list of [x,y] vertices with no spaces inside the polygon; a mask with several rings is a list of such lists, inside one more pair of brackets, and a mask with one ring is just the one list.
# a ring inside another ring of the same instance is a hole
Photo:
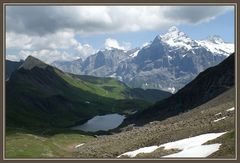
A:
{"label": "entire cloudy sky with blue gaps above the mountains", "polygon": [[234,40],[231,6],[7,6],[6,58],[51,63],[141,47],[177,26],[193,39]]}

